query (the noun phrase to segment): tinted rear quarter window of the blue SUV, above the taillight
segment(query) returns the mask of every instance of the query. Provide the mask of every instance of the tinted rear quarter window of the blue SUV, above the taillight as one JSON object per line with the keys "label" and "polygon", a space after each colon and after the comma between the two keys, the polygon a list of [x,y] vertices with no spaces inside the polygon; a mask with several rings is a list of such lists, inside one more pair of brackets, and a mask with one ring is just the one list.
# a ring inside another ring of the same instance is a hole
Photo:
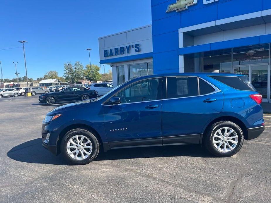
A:
{"label": "tinted rear quarter window of the blue SUV, above the taillight", "polygon": [[[255,91],[255,88],[252,85],[251,85],[252,87],[248,85],[249,82],[246,78],[240,79],[240,77],[237,76],[210,76],[210,77],[236,90]],[[246,80],[247,82],[245,82]]]}

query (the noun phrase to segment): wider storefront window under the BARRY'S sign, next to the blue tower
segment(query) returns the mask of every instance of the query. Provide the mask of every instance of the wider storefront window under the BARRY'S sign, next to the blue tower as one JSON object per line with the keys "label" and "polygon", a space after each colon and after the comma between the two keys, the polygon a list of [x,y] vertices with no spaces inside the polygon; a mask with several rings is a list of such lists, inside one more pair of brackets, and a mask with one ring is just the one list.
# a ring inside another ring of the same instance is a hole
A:
{"label": "wider storefront window under the BARRY'S sign, next to the blue tower", "polygon": [[141,63],[129,66],[129,79],[144,75],[153,75],[153,63]]}

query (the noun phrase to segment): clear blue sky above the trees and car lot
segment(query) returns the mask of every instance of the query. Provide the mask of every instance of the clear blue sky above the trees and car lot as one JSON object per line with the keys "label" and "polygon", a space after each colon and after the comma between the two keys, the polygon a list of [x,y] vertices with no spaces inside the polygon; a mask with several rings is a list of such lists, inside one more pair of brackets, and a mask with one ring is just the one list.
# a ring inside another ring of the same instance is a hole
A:
{"label": "clear blue sky above the trees and car lot", "polygon": [[[151,24],[151,0],[1,0],[0,61],[4,78],[25,75],[26,40],[28,78],[48,70],[63,75],[67,61],[99,64],[98,37]],[[15,49],[10,49],[15,48]],[[5,50],[3,50],[5,49]],[[109,66],[105,72],[107,72]]]}

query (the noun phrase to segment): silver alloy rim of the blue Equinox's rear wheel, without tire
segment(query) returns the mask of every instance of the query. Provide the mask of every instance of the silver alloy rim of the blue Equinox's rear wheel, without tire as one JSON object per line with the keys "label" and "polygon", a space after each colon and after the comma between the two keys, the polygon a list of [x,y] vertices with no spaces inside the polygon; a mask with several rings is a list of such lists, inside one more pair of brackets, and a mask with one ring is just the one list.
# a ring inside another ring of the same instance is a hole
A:
{"label": "silver alloy rim of the blue Equinox's rear wheel, without tire", "polygon": [[220,128],[214,133],[213,144],[219,152],[231,152],[238,144],[238,135],[232,128]]}

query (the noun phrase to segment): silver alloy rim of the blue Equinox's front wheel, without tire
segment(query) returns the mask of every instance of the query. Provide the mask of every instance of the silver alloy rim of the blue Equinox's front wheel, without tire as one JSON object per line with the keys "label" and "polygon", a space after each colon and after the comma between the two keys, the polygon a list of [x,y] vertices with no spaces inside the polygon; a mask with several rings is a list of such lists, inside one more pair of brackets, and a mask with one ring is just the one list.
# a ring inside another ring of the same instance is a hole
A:
{"label": "silver alloy rim of the blue Equinox's front wheel, without tire", "polygon": [[68,155],[76,160],[84,160],[91,155],[92,143],[84,135],[75,135],[69,139],[67,146]]}

